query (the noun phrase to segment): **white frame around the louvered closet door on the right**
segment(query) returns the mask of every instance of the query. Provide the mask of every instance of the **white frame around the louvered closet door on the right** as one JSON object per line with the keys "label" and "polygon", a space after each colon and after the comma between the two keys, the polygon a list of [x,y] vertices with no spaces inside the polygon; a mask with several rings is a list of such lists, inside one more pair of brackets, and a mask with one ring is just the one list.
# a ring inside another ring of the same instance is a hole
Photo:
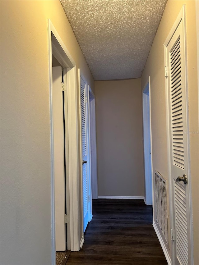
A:
{"label": "white frame around the louvered closet door on the right", "polygon": [[[186,107],[186,116],[187,116],[187,130],[189,130],[189,109],[188,109],[188,85],[187,85],[187,36],[186,36],[186,16],[185,16],[185,4],[183,5],[183,7],[181,8],[168,36],[167,39],[164,42],[164,66],[167,65],[167,57],[166,57],[166,49],[167,46],[174,34],[174,32],[176,31],[176,29],[178,28],[178,25],[180,24],[180,22],[182,21],[182,25],[183,25],[183,34],[184,34],[184,45],[185,45],[185,52],[184,52],[184,56],[185,56],[185,84],[186,84],[186,98],[185,98],[185,107]],[[165,98],[166,98],[166,128],[167,128],[167,158],[168,158],[168,177],[169,177],[169,215],[170,215],[170,227],[171,229],[174,227],[174,202],[173,202],[173,182],[172,182],[172,176],[171,176],[171,152],[170,152],[170,135],[169,135],[169,82],[168,82],[168,78],[165,77]],[[189,135],[187,134],[187,145],[190,146],[190,138]],[[191,246],[190,246],[190,252],[191,252],[191,264],[193,264],[193,223],[192,223],[192,192],[191,192],[191,170],[190,170],[190,149],[187,148],[187,156],[188,156],[188,168],[187,168],[187,172],[188,172],[188,197],[189,197],[189,220],[190,220],[190,241],[191,241]],[[171,260],[172,260],[172,264],[175,263],[175,244],[174,241],[171,240]]]}

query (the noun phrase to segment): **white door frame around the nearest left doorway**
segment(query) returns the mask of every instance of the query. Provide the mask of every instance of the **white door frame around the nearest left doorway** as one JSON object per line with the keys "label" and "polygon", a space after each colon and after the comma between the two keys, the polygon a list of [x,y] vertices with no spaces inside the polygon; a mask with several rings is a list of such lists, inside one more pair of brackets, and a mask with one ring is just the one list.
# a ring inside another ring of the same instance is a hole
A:
{"label": "white door frame around the nearest left doorway", "polygon": [[[52,35],[53,34],[53,35]],[[79,157],[78,157],[78,127],[77,127],[77,85],[76,85],[76,63],[68,52],[58,32],[48,19],[48,51],[49,51],[49,107],[50,107],[50,147],[51,147],[51,238],[52,238],[52,263],[56,264],[55,252],[55,198],[54,198],[54,143],[53,143],[53,104],[52,104],[52,52],[63,67],[67,67],[67,126],[68,157],[66,166],[68,174],[67,183],[67,214],[70,221],[67,224],[67,247],[71,251],[80,249],[80,213],[79,213]],[[70,158],[70,159],[69,159]]]}

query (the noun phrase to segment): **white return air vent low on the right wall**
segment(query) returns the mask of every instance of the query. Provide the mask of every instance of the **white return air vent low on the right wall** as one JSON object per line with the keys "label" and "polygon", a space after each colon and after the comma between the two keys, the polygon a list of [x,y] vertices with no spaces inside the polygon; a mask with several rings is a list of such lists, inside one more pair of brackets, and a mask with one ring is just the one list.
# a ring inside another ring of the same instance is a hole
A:
{"label": "white return air vent low on the right wall", "polygon": [[155,171],[155,223],[168,245],[167,180]]}

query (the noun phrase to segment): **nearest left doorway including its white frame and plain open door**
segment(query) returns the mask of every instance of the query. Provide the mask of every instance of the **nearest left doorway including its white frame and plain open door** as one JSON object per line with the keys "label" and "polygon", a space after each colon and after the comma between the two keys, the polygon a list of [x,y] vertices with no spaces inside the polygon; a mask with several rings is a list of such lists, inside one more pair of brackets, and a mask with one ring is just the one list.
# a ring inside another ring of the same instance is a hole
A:
{"label": "nearest left doorway including its white frame and plain open door", "polygon": [[[56,264],[56,250],[78,251],[80,249],[80,213],[78,212],[79,194],[77,189],[79,181],[78,129],[76,126],[77,91],[76,63],[50,20],[48,20],[48,23],[51,236],[52,264]],[[57,83],[57,87],[55,83]],[[58,166],[60,161],[61,164]],[[56,229],[56,223],[59,223],[58,229],[61,227],[62,233]],[[58,241],[60,244],[58,244]]]}

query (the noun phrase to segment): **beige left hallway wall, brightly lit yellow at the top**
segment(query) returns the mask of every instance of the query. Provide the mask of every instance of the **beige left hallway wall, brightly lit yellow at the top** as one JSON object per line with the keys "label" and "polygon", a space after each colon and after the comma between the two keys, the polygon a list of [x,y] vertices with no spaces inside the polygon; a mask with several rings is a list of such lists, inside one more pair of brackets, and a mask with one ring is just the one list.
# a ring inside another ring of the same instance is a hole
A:
{"label": "beige left hallway wall, brightly lit yellow at the top", "polygon": [[48,18],[92,89],[94,80],[59,1],[0,4],[0,263],[51,264]]}

